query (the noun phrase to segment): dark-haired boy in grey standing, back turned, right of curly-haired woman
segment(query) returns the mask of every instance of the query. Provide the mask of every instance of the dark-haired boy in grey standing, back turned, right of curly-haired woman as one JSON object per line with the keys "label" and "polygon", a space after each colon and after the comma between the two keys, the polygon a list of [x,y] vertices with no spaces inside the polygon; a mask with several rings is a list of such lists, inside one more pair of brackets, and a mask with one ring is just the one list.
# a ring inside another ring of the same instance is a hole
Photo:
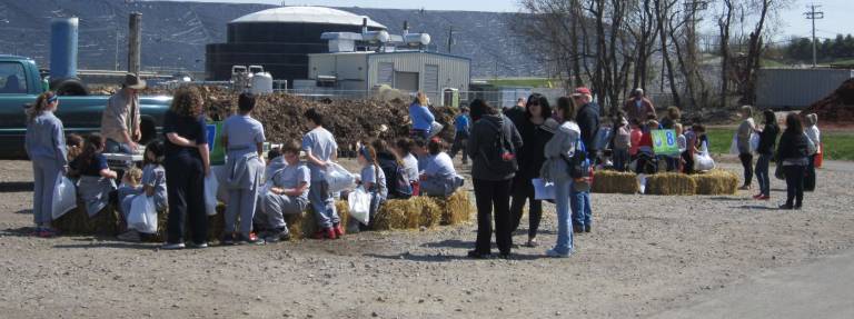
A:
{"label": "dark-haired boy in grey standing, back turned, right of curly-haired woman", "polygon": [[[264,179],[264,126],[252,118],[255,96],[242,93],[238,98],[239,113],[229,117],[222,123],[222,144],[228,151],[226,162],[226,187],[228,207],[226,207],[226,230],[222,245],[264,243],[264,239],[252,233],[252,220],[258,203],[259,189]],[[235,238],[238,217],[240,230]]]}

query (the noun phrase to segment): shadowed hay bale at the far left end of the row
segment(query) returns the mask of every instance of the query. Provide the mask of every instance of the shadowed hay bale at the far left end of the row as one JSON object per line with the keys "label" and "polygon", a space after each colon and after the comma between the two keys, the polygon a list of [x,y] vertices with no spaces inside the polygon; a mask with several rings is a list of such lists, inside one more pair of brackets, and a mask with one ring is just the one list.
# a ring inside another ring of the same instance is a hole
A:
{"label": "shadowed hay bale at the far left end of the row", "polygon": [[108,236],[119,232],[119,213],[112,205],[107,205],[101,211],[89,218],[86,205],[78,200],[77,208],[51,221],[51,226],[62,233]]}

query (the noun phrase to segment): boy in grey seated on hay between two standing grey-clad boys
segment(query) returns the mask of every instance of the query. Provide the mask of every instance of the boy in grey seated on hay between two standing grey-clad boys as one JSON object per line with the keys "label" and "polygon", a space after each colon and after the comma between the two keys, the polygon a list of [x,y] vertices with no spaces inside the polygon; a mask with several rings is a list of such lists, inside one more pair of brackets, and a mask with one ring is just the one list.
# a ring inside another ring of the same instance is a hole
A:
{"label": "boy in grey seated on hay between two standing grey-clad boys", "polygon": [[299,161],[300,144],[296,141],[282,146],[285,166],[271,172],[269,190],[260,195],[260,209],[255,222],[261,228],[266,242],[289,240],[285,215],[300,215],[308,207],[308,190],[311,187],[311,172]]}

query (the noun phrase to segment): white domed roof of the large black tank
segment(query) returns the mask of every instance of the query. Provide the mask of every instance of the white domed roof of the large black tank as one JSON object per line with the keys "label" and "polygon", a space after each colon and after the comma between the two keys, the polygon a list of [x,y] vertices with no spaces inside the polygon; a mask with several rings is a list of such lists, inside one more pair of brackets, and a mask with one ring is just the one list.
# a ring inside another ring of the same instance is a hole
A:
{"label": "white domed roof of the large black tank", "polygon": [[[354,14],[347,11],[326,7],[280,7],[249,13],[237,18],[231,23],[245,22],[278,22],[278,23],[326,23],[361,26],[365,16]],[[388,29],[386,26],[368,18],[368,27]]]}

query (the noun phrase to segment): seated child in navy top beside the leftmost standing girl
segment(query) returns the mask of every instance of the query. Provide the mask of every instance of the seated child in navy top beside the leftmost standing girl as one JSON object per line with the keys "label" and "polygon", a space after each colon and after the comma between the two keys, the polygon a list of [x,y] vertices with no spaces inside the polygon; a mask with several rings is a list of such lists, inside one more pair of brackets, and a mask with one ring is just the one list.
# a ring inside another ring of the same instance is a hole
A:
{"label": "seated child in navy top beside the leftmost standing girl", "polygon": [[86,211],[93,217],[107,207],[110,192],[116,189],[116,171],[107,166],[103,157],[105,141],[101,134],[92,133],[86,138],[83,151],[71,163],[71,169],[80,176],[78,196],[86,203]]}

